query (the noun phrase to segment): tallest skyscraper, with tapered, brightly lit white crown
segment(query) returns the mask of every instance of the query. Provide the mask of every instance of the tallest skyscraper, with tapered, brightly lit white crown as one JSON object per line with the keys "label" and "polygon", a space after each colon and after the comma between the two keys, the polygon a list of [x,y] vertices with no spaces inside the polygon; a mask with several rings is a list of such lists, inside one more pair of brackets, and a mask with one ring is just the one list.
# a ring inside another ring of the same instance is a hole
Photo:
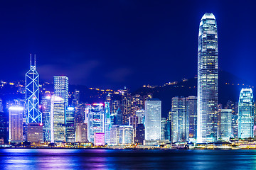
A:
{"label": "tallest skyscraper, with tapered, brightly lit white crown", "polygon": [[201,18],[198,35],[197,142],[213,142],[218,133],[218,33],[213,13]]}

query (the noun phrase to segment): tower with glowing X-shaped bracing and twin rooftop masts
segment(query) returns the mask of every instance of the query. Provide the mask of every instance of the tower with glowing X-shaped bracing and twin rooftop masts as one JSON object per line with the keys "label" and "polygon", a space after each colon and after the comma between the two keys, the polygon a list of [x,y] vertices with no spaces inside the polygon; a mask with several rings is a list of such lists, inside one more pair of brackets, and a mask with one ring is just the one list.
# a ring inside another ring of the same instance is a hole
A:
{"label": "tower with glowing X-shaped bracing and twin rooftop masts", "polygon": [[26,123],[42,123],[39,111],[39,74],[36,72],[36,55],[31,56],[31,69],[26,73]]}

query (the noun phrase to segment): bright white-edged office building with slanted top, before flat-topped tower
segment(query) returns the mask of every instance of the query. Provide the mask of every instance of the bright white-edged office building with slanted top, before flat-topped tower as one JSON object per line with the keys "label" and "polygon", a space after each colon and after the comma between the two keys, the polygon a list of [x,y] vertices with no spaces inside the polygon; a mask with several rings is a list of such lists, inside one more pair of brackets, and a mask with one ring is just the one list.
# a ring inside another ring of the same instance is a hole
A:
{"label": "bright white-edged office building with slanted top, before flat-topped tower", "polygon": [[51,98],[50,132],[52,142],[65,142],[65,101],[55,95]]}

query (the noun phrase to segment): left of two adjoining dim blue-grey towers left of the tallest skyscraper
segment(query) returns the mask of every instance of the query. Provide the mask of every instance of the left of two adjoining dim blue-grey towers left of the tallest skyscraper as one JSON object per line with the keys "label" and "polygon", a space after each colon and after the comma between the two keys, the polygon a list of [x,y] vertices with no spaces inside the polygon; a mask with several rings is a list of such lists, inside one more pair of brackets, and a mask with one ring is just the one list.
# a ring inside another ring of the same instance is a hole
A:
{"label": "left of two adjoining dim blue-grey towers left of the tallest skyscraper", "polygon": [[171,99],[171,142],[188,141],[188,114],[186,113],[186,98]]}

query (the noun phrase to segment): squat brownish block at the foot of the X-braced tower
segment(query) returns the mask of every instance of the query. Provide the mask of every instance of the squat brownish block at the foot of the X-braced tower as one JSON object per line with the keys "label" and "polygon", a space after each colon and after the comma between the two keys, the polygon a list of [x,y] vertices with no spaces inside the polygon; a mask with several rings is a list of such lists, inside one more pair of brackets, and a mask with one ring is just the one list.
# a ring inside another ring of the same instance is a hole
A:
{"label": "squat brownish block at the foot of the X-braced tower", "polygon": [[43,142],[43,123],[28,123],[28,142]]}

